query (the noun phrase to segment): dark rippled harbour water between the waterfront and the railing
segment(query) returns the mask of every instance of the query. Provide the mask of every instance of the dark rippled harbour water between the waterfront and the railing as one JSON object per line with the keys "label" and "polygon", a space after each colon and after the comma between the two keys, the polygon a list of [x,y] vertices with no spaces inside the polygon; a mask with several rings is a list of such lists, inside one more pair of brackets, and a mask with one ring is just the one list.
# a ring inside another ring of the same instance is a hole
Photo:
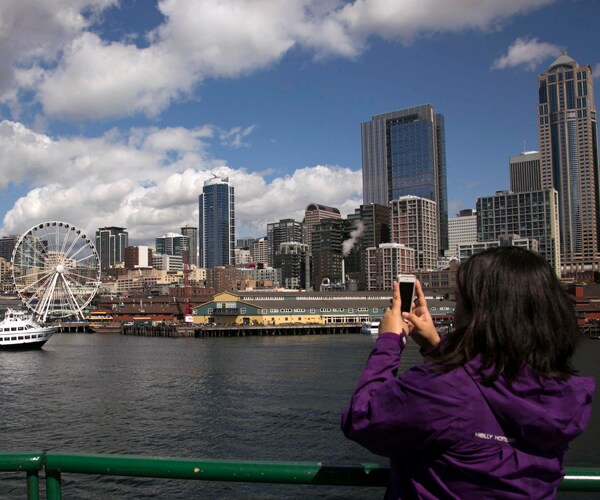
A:
{"label": "dark rippled harbour water between the waterfront and the railing", "polygon": [[[374,339],[363,335],[166,339],[56,334],[0,352],[0,450],[386,465],[344,438],[340,414]],[[598,375],[600,342],[577,358]],[[420,360],[409,344],[406,367]],[[600,416],[568,465],[600,466]],[[63,475],[64,498],[381,498],[381,488]],[[0,498],[25,476],[0,474]]]}

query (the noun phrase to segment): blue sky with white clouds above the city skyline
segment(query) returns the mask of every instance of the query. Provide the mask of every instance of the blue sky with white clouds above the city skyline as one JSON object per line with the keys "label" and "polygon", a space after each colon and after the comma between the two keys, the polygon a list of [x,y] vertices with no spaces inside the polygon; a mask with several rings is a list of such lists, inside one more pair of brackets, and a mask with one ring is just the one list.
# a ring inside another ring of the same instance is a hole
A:
{"label": "blue sky with white clouds above the city skyline", "polygon": [[537,77],[566,50],[600,76],[597,0],[3,0],[0,236],[46,221],[198,224],[213,175],[236,237],[362,203],[360,124],[445,117],[449,215],[538,150]]}

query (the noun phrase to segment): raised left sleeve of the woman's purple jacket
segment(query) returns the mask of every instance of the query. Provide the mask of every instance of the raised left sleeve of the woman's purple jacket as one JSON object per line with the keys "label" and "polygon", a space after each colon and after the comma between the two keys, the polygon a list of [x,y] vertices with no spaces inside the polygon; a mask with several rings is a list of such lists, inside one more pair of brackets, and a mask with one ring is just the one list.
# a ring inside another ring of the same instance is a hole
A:
{"label": "raised left sleeve of the woman's purple jacket", "polygon": [[386,457],[407,456],[433,443],[442,445],[444,433],[464,414],[455,397],[460,389],[445,380],[440,384],[443,377],[426,365],[396,377],[405,344],[405,334],[379,335],[342,415],[347,438]]}

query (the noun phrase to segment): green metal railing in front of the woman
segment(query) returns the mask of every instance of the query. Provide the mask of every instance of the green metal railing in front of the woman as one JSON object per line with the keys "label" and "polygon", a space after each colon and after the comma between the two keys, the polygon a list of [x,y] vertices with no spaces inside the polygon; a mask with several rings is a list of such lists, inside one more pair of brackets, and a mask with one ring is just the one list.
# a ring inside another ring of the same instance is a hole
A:
{"label": "green metal railing in front of the woman", "polygon": [[[377,464],[324,465],[320,462],[196,460],[139,455],[62,452],[0,453],[0,472],[25,472],[27,498],[40,498],[39,473],[45,472],[46,498],[59,500],[63,473],[194,479],[278,484],[381,486],[389,469]],[[600,469],[567,467],[561,491],[600,492]]]}

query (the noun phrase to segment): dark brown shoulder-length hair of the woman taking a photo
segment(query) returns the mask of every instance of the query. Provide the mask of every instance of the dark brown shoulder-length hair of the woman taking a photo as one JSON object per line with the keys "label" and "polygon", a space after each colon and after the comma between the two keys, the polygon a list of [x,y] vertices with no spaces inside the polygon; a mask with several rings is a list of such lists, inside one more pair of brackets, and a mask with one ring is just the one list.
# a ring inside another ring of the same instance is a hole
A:
{"label": "dark brown shoulder-length hair of the woman taking a photo", "polygon": [[538,375],[568,378],[579,332],[574,301],[539,254],[498,247],[475,254],[458,269],[461,317],[438,356],[442,371],[482,358],[484,382],[514,380],[524,365]]}

